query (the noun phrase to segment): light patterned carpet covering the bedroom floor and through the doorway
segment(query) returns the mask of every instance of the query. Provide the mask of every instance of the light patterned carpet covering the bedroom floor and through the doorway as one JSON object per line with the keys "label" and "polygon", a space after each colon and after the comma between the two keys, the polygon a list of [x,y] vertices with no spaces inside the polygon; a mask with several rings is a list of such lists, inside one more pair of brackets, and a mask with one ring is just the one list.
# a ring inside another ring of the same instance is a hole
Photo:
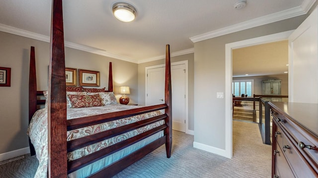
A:
{"label": "light patterned carpet covering the bedroom floor and through the doorway", "polygon": [[[0,165],[0,178],[33,178],[37,165],[34,156]],[[170,158],[161,146],[114,178],[270,177],[271,146],[262,143],[258,125],[233,121],[232,159],[193,148],[193,135],[173,131]]]}

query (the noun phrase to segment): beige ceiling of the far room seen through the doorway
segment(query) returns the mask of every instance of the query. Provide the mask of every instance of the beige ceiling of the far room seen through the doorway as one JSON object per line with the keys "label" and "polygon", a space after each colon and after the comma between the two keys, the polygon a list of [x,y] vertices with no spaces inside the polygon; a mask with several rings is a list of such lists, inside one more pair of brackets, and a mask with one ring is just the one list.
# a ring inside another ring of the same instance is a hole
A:
{"label": "beige ceiling of the far room seen through the doorway", "polygon": [[233,77],[288,73],[288,40],[232,50]]}

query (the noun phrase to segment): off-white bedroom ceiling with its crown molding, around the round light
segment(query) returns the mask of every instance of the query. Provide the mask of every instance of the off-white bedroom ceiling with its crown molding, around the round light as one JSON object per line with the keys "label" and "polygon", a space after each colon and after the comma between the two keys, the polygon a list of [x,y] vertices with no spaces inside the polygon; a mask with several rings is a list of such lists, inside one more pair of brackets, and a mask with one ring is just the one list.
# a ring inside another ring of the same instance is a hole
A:
{"label": "off-white bedroom ceiling with its crown molding, around the round light", "polygon": [[[124,23],[112,5],[127,1],[137,9]],[[64,0],[65,45],[129,62],[194,52],[194,43],[299,15],[316,0]],[[0,0],[0,31],[49,42],[51,0]]]}

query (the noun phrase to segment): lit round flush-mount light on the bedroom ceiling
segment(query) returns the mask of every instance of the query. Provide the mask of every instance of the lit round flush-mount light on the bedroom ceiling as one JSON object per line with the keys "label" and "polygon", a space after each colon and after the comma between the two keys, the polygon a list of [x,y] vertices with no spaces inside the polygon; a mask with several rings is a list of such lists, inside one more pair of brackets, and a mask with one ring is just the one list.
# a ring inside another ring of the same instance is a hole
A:
{"label": "lit round flush-mount light on the bedroom ceiling", "polygon": [[114,16],[123,22],[131,22],[136,17],[136,9],[126,2],[117,2],[113,5]]}

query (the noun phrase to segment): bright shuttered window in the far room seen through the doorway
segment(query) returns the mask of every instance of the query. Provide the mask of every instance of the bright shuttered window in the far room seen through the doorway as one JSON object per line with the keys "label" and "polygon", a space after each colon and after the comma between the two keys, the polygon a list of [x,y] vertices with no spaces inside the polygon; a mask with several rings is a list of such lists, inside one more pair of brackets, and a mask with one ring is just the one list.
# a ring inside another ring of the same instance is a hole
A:
{"label": "bright shuttered window in the far room seen through the doorway", "polygon": [[253,95],[254,80],[234,80],[232,82],[232,91],[236,97],[242,94],[251,97]]}

